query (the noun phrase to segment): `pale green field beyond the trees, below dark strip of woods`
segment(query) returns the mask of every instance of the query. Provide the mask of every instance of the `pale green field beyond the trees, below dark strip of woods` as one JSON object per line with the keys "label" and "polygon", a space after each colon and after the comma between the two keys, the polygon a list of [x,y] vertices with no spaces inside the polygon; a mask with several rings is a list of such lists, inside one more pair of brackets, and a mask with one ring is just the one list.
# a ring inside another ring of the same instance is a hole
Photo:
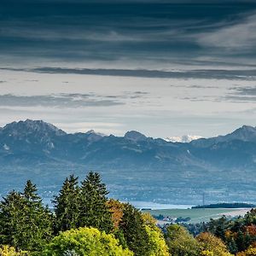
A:
{"label": "pale green field beyond the trees, below dark strip of woods", "polygon": [[217,209],[166,209],[166,210],[151,210],[144,211],[150,212],[152,215],[164,215],[171,218],[191,218],[190,223],[200,223],[207,222],[210,218],[220,218],[222,215],[226,216],[236,216],[244,215],[249,209],[227,209],[227,208],[217,208]]}

